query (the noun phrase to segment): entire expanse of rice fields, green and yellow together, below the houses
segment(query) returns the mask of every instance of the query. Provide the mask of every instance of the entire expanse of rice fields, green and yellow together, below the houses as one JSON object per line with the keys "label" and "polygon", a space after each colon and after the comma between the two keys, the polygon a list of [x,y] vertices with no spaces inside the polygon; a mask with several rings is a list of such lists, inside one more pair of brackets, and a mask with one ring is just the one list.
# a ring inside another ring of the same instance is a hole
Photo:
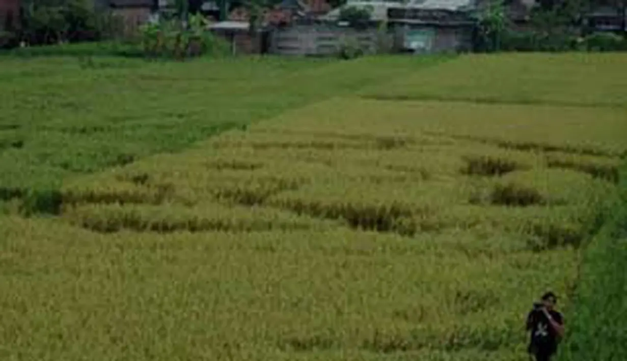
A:
{"label": "entire expanse of rice fields, green and yellow together, below the houses", "polygon": [[0,58],[0,359],[627,357],[625,65]]}

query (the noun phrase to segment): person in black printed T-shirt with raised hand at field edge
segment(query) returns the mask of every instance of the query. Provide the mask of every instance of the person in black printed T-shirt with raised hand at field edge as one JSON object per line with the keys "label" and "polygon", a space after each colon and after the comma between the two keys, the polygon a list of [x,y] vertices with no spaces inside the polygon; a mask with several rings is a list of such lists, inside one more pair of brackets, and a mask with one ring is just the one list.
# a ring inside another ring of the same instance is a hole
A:
{"label": "person in black printed T-shirt with raised hand at field edge", "polygon": [[527,330],[531,332],[529,353],[537,361],[551,360],[564,337],[564,318],[554,310],[556,303],[556,295],[547,292],[542,295],[542,302],[534,303],[534,309],[527,315]]}

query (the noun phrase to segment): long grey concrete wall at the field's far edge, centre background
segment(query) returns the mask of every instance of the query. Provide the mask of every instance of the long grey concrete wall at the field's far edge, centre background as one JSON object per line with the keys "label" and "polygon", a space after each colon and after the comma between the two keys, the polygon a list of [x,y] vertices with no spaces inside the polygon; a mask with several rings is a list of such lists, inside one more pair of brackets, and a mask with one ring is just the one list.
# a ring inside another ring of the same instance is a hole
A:
{"label": "long grey concrete wall at the field's far edge, centre background", "polygon": [[270,34],[270,53],[282,55],[337,54],[346,41],[356,41],[363,48],[374,51],[377,46],[376,29],[357,30],[324,25],[298,25],[276,29]]}

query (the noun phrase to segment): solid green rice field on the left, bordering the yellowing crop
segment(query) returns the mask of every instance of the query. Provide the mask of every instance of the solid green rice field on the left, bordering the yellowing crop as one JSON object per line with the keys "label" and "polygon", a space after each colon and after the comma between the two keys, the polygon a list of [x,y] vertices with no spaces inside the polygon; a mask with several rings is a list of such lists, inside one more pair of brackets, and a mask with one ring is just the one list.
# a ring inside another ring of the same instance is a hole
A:
{"label": "solid green rice field on the left, bordering the yellowing crop", "polygon": [[443,60],[0,58],[0,201]]}

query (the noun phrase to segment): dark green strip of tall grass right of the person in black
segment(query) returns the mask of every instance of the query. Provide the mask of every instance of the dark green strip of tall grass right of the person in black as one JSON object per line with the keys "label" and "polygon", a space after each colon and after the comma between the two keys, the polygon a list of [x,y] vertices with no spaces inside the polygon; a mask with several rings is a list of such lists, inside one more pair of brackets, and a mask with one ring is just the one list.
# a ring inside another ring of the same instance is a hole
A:
{"label": "dark green strip of tall grass right of the person in black", "polygon": [[560,361],[627,360],[626,178],[619,187],[613,211],[584,250]]}

